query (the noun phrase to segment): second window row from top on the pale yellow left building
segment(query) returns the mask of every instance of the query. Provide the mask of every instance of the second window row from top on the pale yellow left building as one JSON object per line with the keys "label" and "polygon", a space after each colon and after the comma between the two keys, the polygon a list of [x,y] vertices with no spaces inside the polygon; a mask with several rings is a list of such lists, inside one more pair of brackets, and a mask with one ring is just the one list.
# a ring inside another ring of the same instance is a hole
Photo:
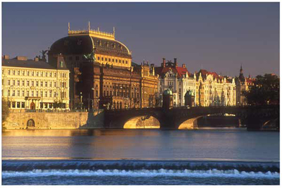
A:
{"label": "second window row from top on the pale yellow left building", "polygon": [[[3,83],[3,81],[2,81]],[[17,83],[17,84],[16,84]],[[39,82],[39,81],[31,81],[30,80],[21,80],[21,86],[25,86],[25,83],[26,83],[26,86],[32,86],[32,87],[48,87],[48,82]],[[20,86],[20,80],[7,80],[7,84],[8,85],[17,85],[17,86]],[[52,81],[49,81],[49,87],[52,87],[52,85],[54,85],[54,87],[56,87],[56,82],[52,82]],[[66,82],[61,82],[61,87],[66,87]]]}

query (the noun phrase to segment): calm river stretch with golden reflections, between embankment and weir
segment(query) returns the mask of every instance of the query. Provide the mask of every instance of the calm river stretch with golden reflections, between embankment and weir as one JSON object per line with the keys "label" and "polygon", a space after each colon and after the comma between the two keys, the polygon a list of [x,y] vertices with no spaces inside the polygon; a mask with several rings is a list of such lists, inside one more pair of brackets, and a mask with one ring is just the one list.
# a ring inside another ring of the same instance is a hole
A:
{"label": "calm river stretch with golden reflections, between embankment and weir", "polygon": [[278,132],[245,130],[6,130],[8,158],[279,160]]}

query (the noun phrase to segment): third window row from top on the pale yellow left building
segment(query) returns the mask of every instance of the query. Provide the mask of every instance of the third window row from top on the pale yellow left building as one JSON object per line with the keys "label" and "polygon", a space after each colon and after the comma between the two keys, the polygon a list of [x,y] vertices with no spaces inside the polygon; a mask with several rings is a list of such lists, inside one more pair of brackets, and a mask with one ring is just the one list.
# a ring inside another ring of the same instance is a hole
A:
{"label": "third window row from top on the pale yellow left building", "polygon": [[[2,91],[2,96],[3,95],[4,95],[4,92]],[[8,90],[8,96],[37,96],[37,97],[39,97],[39,96],[48,97],[49,96],[49,97],[52,97],[52,95],[53,95],[53,97],[57,96],[56,92],[53,92],[53,91],[49,91],[49,95],[48,95],[48,92],[45,91],[44,95],[43,95],[43,92],[39,93],[39,91],[31,91],[31,92],[26,91],[25,92],[25,90],[22,90],[22,91],[20,91],[20,90],[12,90],[12,91]],[[66,98],[66,92],[61,92],[61,96]]]}

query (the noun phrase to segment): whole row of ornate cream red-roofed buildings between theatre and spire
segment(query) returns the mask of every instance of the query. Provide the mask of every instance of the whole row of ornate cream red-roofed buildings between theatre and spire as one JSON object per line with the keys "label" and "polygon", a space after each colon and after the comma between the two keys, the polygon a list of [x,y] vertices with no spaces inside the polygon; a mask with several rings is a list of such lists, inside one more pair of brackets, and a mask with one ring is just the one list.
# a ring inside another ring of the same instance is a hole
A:
{"label": "whole row of ornate cream red-roofed buildings between theatre and spire", "polygon": [[234,106],[236,105],[235,80],[232,77],[219,76],[216,73],[200,70],[193,75],[185,64],[178,67],[177,59],[166,62],[156,68],[159,75],[159,99],[162,92],[171,89],[173,106],[185,106],[185,94],[190,92],[193,106]]}

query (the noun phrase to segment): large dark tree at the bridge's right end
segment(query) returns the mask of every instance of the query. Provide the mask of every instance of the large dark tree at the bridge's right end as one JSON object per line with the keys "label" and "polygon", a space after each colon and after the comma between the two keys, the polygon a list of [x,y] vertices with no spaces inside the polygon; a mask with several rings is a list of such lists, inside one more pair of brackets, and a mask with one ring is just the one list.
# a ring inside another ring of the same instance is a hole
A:
{"label": "large dark tree at the bridge's right end", "polygon": [[243,92],[250,105],[279,104],[279,78],[274,74],[258,75],[254,85]]}

